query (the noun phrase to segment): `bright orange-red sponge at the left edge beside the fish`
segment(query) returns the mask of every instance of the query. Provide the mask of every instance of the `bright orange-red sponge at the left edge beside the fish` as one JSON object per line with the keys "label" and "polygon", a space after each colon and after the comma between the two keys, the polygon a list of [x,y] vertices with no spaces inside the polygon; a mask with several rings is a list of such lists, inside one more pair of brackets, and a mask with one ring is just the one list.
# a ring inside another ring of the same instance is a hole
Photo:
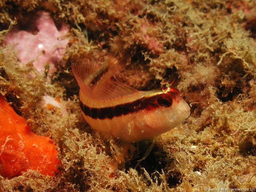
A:
{"label": "bright orange-red sponge at the left edge beside the fish", "polygon": [[0,175],[11,179],[28,169],[54,175],[60,164],[55,147],[49,137],[31,132],[0,94]]}

